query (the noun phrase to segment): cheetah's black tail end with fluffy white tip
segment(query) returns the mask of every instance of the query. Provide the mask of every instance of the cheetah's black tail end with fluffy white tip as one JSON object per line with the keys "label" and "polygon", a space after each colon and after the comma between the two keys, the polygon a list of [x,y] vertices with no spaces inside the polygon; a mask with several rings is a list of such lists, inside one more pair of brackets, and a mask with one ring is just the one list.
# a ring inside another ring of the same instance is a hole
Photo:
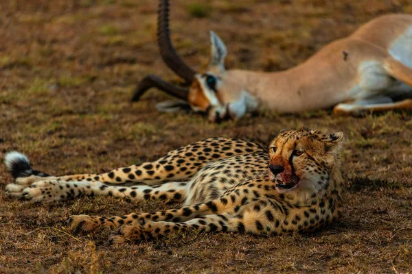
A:
{"label": "cheetah's black tail end with fluffy white tip", "polygon": [[30,175],[36,175],[40,177],[49,177],[45,173],[40,171],[35,171],[30,166],[30,161],[27,157],[17,151],[9,152],[4,158],[5,166],[7,166],[8,171],[12,173],[12,176],[16,179],[19,177],[29,177]]}

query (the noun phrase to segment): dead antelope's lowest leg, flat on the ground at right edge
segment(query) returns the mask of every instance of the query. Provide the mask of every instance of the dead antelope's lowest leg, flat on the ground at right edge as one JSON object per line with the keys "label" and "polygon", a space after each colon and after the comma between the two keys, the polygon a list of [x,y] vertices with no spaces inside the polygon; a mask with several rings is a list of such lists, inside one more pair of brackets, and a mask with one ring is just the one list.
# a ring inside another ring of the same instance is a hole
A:
{"label": "dead antelope's lowest leg, flat on the ground at right edge", "polygon": [[398,109],[412,110],[412,99],[404,99],[402,101],[396,101],[391,103],[339,103],[338,105],[335,105],[333,112],[334,114],[339,115],[357,115],[370,111],[385,111]]}

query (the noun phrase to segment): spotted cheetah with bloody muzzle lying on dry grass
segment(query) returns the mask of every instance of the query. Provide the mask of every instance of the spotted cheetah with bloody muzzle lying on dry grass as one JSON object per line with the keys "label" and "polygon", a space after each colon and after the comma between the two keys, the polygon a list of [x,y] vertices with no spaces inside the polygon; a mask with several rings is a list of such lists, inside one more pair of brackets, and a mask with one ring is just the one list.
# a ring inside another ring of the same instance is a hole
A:
{"label": "spotted cheetah with bloody muzzle lying on dry grass", "polygon": [[109,240],[118,244],[187,231],[268,236],[312,232],[341,215],[342,145],[342,132],[283,129],[268,151],[244,140],[209,138],[155,162],[62,177],[35,171],[24,155],[12,152],[5,164],[16,182],[6,191],[36,202],[108,195],[182,203],[160,212],[70,217],[76,232],[117,229]]}

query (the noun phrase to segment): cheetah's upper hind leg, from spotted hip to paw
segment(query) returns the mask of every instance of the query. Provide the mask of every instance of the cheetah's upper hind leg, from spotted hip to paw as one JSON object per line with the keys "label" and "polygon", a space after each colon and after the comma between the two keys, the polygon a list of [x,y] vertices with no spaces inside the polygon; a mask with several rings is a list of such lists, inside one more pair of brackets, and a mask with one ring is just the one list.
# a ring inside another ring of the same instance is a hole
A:
{"label": "cheetah's upper hind leg, from spotted hip to paw", "polygon": [[[228,138],[209,138],[170,151],[155,162],[144,162],[102,174],[66,175],[50,177],[49,179],[66,182],[98,181],[106,184],[142,182],[154,186],[161,182],[189,179],[208,162],[256,151],[262,151],[262,147],[253,142]],[[33,175],[17,179],[19,184],[25,186],[41,180],[44,178]]]}

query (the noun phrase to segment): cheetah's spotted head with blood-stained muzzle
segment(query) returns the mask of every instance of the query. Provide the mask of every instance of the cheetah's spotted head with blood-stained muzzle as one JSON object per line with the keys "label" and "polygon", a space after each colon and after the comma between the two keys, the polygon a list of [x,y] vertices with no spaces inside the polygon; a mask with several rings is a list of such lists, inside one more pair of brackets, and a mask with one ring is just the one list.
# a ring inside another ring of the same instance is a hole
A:
{"label": "cheetah's spotted head with blood-stained muzzle", "polygon": [[312,195],[326,188],[332,169],[339,166],[342,140],[342,132],[281,131],[269,147],[268,175],[277,191]]}

